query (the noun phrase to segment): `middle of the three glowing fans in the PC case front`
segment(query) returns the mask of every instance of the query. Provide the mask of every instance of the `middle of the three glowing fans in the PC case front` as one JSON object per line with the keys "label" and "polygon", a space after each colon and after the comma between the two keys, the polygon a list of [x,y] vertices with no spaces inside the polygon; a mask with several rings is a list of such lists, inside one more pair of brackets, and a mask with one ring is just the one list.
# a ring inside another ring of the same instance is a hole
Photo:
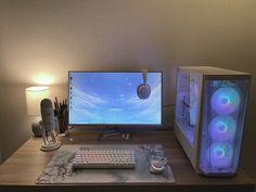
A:
{"label": "middle of the three glowing fans in the PC case front", "polygon": [[235,120],[230,116],[217,116],[209,123],[210,138],[218,141],[228,141],[234,137]]}

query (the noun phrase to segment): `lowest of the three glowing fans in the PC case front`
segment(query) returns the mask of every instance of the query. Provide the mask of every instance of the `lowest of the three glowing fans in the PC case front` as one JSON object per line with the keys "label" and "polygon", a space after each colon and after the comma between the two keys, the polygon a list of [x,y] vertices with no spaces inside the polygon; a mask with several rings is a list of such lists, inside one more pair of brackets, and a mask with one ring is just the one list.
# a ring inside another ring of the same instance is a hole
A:
{"label": "lowest of the three glowing fans in the PC case front", "polygon": [[215,142],[208,149],[207,157],[213,168],[228,168],[231,166],[233,148],[229,143]]}

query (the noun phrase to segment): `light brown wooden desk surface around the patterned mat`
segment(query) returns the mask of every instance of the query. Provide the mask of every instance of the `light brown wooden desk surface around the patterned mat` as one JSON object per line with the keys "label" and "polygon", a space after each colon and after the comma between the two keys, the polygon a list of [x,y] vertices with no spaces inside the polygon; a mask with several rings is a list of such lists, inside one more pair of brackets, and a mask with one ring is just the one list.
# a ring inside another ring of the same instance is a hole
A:
{"label": "light brown wooden desk surface around the patterned mat", "polygon": [[165,148],[174,171],[176,183],[172,184],[80,184],[80,185],[36,185],[35,181],[50,162],[55,152],[41,152],[41,139],[31,138],[0,166],[0,191],[207,191],[207,192],[254,192],[255,183],[239,170],[231,178],[206,178],[196,175],[172,131],[135,131],[131,141],[99,141],[98,132],[73,132],[69,138],[60,138],[62,144],[103,144],[103,143],[161,143]]}

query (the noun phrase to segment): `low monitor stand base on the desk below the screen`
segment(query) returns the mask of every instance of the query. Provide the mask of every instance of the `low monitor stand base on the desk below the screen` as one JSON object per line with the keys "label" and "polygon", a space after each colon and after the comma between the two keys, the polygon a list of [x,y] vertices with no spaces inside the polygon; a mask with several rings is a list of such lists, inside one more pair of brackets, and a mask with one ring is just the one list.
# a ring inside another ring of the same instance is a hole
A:
{"label": "low monitor stand base on the desk below the screen", "polygon": [[110,130],[99,135],[99,140],[126,140],[129,141],[131,135],[119,130]]}

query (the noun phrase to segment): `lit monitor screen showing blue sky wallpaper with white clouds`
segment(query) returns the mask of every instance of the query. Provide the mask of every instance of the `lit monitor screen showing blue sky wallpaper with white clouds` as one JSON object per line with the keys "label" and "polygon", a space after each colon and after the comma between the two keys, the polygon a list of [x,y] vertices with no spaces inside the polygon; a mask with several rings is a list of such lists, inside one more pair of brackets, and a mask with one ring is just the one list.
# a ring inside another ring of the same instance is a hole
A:
{"label": "lit monitor screen showing blue sky wallpaper with white clouds", "polygon": [[162,125],[162,72],[69,72],[69,125]]}

